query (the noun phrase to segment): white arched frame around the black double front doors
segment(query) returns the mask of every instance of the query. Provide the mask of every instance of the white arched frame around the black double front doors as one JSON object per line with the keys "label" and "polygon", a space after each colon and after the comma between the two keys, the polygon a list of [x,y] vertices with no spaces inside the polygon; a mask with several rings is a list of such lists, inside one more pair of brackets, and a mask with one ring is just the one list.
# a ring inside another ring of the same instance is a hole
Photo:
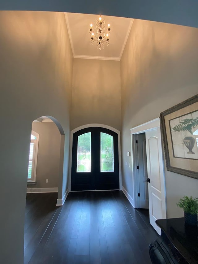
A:
{"label": "white arched frame around the black double front doors", "polygon": [[[70,154],[69,154],[69,192],[71,192],[71,163],[72,163],[72,148],[73,148],[73,134],[84,128],[107,128],[118,134],[118,164],[119,164],[119,190],[122,190],[122,169],[121,169],[121,145],[120,145],[120,131],[116,128],[103,124],[87,124],[71,130],[70,133]],[[93,190],[95,191],[95,190]],[[103,190],[104,191],[104,190]],[[75,191],[74,191],[75,192]]]}

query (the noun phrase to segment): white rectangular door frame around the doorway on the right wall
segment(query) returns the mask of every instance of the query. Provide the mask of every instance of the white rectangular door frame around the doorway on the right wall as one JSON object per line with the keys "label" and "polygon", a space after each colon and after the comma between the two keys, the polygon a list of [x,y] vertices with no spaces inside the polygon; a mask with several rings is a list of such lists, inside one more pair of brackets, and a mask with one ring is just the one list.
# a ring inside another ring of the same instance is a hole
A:
{"label": "white rectangular door frame around the doorway on the right wall", "polygon": [[[138,197],[139,193],[139,172],[137,170],[137,144],[136,144],[136,134],[140,134],[143,132],[155,130],[156,128],[160,128],[160,119],[159,117],[143,123],[139,126],[130,129],[131,133],[131,164],[132,164],[132,171],[133,171],[133,203],[132,206],[134,208],[140,208],[140,197]],[[161,130],[161,129],[160,129]],[[162,144],[162,141],[161,141]],[[163,149],[163,146],[161,150]],[[165,214],[167,218],[167,207],[166,207],[166,185],[165,185],[165,170],[164,170],[164,155],[163,151],[161,151],[162,161],[163,161],[163,179],[164,179],[164,190],[161,193],[162,198],[165,202]],[[136,195],[135,195],[136,194]]]}

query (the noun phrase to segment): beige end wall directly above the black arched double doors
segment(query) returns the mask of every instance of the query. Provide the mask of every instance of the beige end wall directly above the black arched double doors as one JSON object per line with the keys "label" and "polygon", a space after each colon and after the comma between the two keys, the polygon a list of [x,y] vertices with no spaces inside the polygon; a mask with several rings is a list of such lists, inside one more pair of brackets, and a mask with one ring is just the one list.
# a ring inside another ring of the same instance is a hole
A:
{"label": "beige end wall directly above the black arched double doors", "polygon": [[74,59],[71,130],[91,123],[120,130],[120,62]]}

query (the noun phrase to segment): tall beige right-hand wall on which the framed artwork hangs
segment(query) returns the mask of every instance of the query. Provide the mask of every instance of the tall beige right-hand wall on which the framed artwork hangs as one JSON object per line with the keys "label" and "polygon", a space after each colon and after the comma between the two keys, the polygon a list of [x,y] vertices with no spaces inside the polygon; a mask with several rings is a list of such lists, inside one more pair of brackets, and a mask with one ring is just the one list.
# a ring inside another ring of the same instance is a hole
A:
{"label": "tall beige right-hand wall on which the framed artwork hangs", "polygon": [[[121,58],[123,186],[132,193],[129,129],[198,93],[198,29],[135,20]],[[176,202],[197,196],[198,180],[165,172],[168,217],[182,217]]]}

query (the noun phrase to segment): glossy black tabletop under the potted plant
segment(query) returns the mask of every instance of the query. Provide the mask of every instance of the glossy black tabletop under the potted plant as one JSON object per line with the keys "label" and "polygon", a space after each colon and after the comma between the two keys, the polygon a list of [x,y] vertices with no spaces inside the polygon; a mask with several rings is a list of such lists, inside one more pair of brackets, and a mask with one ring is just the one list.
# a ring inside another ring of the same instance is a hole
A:
{"label": "glossy black tabletop under the potted plant", "polygon": [[156,224],[165,232],[168,239],[183,258],[198,263],[198,226],[187,226],[184,218],[159,219]]}

